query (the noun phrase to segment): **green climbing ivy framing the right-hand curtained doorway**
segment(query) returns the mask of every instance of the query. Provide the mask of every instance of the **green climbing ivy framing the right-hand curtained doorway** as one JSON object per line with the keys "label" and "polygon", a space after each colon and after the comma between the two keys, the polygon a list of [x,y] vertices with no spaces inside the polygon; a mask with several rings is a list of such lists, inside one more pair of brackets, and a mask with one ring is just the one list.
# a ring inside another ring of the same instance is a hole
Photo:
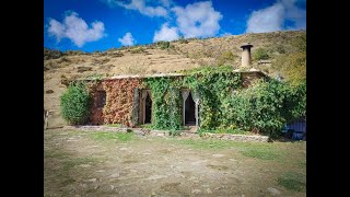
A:
{"label": "green climbing ivy framing the right-hand curtained doorway", "polygon": [[178,130],[182,128],[183,99],[180,89],[190,89],[200,95],[200,126],[214,129],[225,124],[222,100],[233,90],[241,88],[241,74],[229,69],[195,70],[180,78],[149,78],[144,86],[152,92],[152,125],[156,129]]}

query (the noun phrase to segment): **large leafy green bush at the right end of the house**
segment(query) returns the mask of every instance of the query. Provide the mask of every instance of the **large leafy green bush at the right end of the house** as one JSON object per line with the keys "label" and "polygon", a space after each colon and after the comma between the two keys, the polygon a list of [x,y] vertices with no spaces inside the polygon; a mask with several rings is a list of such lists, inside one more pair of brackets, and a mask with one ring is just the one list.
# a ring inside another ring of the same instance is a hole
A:
{"label": "large leafy green bush at the right end of the house", "polygon": [[224,100],[228,123],[278,137],[285,123],[306,115],[306,85],[260,81]]}

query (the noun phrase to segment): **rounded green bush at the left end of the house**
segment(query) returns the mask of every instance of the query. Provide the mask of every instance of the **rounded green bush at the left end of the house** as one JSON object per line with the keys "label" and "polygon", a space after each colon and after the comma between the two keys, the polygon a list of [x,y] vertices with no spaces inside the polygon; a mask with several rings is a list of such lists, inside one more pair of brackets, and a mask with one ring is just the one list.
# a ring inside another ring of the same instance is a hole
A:
{"label": "rounded green bush at the left end of the house", "polygon": [[89,120],[92,97],[86,83],[71,83],[60,100],[62,117],[69,124],[79,125]]}

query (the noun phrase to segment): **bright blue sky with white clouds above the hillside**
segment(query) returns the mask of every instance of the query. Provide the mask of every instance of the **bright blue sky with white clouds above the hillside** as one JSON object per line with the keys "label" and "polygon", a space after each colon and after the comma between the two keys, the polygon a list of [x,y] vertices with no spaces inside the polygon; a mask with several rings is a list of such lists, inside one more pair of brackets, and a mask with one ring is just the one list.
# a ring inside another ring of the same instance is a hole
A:
{"label": "bright blue sky with white clouds above the hillside", "polygon": [[44,46],[59,50],[306,30],[306,0],[44,0]]}

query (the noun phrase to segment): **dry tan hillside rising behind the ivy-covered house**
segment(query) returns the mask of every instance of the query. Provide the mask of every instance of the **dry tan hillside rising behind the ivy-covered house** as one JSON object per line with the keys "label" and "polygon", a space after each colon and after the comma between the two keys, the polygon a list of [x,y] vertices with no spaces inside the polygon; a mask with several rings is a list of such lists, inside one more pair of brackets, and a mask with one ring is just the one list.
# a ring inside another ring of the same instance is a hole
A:
{"label": "dry tan hillside rising behind the ivy-covered house", "polygon": [[[66,89],[61,84],[62,79],[179,72],[218,65],[230,65],[236,69],[241,65],[240,46],[243,43],[254,45],[252,67],[271,77],[279,73],[288,79],[291,76],[291,71],[287,69],[290,65],[285,63],[288,58],[293,58],[291,62],[294,62],[294,57],[301,65],[306,62],[306,51],[300,49],[305,40],[305,31],[290,31],[179,39],[95,53],[62,53],[44,48],[44,107],[51,111],[49,127],[65,124],[59,115],[59,96]],[[261,65],[258,59],[267,61]],[[302,73],[301,78],[305,78],[306,65],[298,69],[298,74]]]}

